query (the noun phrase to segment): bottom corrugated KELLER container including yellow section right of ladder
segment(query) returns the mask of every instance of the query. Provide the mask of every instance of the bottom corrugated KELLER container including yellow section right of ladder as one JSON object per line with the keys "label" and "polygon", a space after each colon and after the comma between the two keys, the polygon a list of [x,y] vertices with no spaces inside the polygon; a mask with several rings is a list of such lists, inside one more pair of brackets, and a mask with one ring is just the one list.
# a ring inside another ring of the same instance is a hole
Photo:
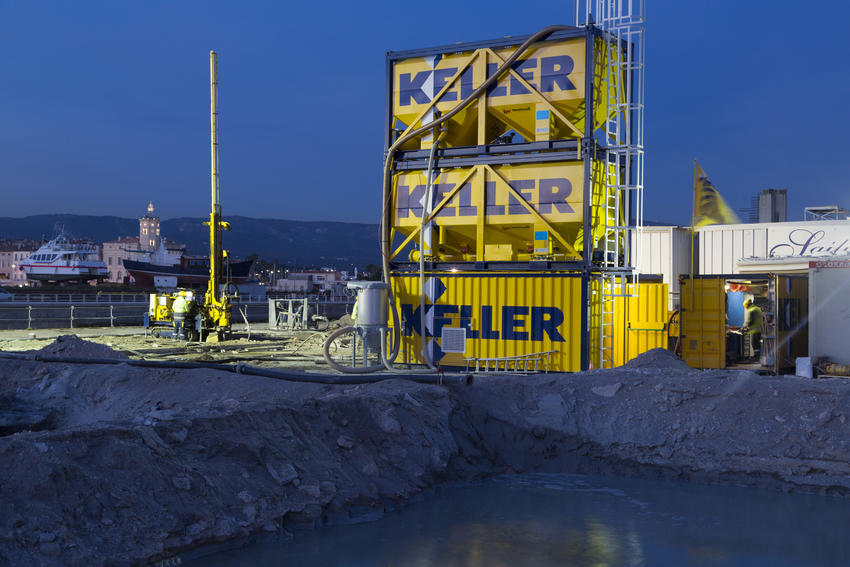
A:
{"label": "bottom corrugated KELLER container including yellow section right of ladder", "polygon": [[[551,371],[579,371],[581,286],[577,272],[428,273],[424,311],[427,354],[441,366],[465,367],[471,361],[474,367],[476,361],[483,364],[485,359],[527,358],[537,360],[541,370],[548,362]],[[424,363],[419,276],[394,274],[392,288],[402,326],[399,360]],[[598,294],[591,294],[591,301],[598,304]],[[616,298],[615,304],[611,339],[615,364],[665,346],[666,284],[642,283],[638,296]],[[591,325],[591,333],[599,327],[598,322]],[[591,356],[598,368],[601,349],[598,342],[595,346]],[[504,367],[504,362],[500,366]]]}

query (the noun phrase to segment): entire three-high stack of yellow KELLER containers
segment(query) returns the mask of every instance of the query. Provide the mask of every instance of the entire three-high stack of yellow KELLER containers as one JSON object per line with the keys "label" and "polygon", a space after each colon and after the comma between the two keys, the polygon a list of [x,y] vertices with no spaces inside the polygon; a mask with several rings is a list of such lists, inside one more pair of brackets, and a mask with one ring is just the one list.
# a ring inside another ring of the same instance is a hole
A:
{"label": "entire three-high stack of yellow KELLER containers", "polygon": [[387,54],[382,253],[402,359],[572,371],[666,342],[616,313],[666,319],[638,294],[663,284],[630,263],[643,63],[619,26]]}

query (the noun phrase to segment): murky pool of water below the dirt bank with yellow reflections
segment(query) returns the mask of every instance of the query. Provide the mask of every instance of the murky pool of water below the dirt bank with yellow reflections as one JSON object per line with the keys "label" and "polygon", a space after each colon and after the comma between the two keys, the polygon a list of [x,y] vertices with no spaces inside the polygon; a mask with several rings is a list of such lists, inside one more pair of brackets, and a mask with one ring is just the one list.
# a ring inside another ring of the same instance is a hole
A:
{"label": "murky pool of water below the dirt bank with yellow reflections", "polygon": [[430,491],[370,523],[189,565],[642,567],[841,565],[843,499],[601,479],[500,477]]}

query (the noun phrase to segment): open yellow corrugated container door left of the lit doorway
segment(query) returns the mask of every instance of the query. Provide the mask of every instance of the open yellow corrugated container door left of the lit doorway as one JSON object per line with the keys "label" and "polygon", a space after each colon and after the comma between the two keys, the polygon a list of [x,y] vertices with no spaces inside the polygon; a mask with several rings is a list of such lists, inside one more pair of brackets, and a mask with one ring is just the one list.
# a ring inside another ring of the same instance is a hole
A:
{"label": "open yellow corrugated container door left of the lit doorway", "polygon": [[726,367],[725,283],[721,278],[682,283],[682,358],[693,368]]}

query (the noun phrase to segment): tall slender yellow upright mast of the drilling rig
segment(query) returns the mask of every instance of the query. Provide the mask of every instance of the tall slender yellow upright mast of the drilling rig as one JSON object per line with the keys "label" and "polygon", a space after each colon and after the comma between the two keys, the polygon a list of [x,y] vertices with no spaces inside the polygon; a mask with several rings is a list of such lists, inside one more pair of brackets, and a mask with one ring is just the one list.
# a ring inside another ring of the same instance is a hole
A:
{"label": "tall slender yellow upright mast of the drilling rig", "polygon": [[210,227],[210,281],[204,296],[203,326],[207,331],[207,339],[222,338],[222,334],[230,332],[230,297],[227,295],[224,260],[227,252],[222,250],[221,231],[230,230],[230,223],[221,220],[221,203],[219,202],[218,174],[218,76],[217,55],[210,51],[210,167],[212,210]]}

